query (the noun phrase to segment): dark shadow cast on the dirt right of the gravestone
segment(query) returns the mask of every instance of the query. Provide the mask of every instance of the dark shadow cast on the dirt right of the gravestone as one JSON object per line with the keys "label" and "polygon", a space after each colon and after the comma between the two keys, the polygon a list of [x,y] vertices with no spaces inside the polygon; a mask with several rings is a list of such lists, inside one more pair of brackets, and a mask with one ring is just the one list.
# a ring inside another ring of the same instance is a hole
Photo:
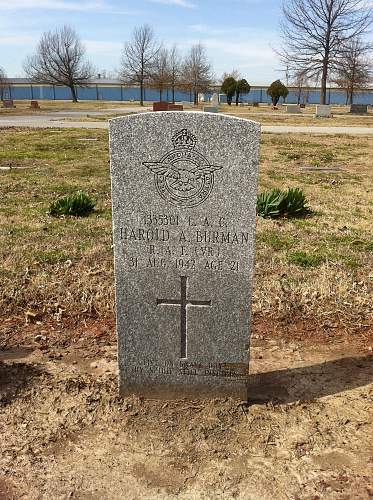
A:
{"label": "dark shadow cast on the dirt right of the gravestone", "polygon": [[342,358],[301,368],[253,374],[249,381],[249,401],[310,401],[372,382],[373,356]]}

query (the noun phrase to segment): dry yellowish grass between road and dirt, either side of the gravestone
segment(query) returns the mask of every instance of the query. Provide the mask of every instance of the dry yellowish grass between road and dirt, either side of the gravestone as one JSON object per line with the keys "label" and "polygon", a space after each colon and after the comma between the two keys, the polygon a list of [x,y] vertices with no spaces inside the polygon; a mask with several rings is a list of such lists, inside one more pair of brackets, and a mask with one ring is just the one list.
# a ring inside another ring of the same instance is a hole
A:
{"label": "dry yellowish grass between road and dirt, either side of the gravestone", "polygon": [[[302,187],[314,212],[305,219],[258,220],[256,314],[367,321],[373,286],[372,150],[370,137],[263,135],[260,189]],[[300,165],[342,170],[304,173]],[[3,315],[111,315],[107,132],[5,129],[0,180]],[[46,215],[52,200],[78,189],[97,200],[94,215]]]}

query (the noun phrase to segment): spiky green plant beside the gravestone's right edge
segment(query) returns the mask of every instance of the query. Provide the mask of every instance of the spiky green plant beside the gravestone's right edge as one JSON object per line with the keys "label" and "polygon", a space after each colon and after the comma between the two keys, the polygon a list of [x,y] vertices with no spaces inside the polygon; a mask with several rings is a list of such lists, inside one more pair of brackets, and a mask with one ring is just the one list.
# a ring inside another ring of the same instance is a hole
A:
{"label": "spiky green plant beside the gravestone's right edge", "polygon": [[257,214],[260,217],[297,217],[309,212],[307,199],[299,188],[290,188],[287,191],[272,189],[259,194],[257,200]]}

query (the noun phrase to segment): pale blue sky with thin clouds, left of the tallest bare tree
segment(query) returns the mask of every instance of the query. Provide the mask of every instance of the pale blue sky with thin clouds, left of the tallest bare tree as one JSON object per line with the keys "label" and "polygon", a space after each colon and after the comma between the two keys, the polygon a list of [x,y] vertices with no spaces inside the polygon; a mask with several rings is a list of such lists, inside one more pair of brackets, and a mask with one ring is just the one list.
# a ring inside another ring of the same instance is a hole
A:
{"label": "pale blue sky with thin clouds, left of the tallest bare tree", "polygon": [[148,23],[182,54],[201,42],[215,75],[238,69],[251,84],[283,77],[277,45],[280,0],[0,0],[0,66],[23,76],[22,61],[43,31],[63,24],[79,33],[98,71],[119,67],[125,40]]}

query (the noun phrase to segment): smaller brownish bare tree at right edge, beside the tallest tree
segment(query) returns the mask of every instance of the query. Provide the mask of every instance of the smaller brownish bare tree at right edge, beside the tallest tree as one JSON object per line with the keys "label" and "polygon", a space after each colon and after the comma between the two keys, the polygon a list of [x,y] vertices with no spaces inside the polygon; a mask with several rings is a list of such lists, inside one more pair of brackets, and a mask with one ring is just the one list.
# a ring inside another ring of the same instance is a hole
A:
{"label": "smaller brownish bare tree at right edge, beside the tallest tree", "polygon": [[351,40],[337,63],[334,82],[346,89],[346,104],[353,104],[354,92],[363,90],[372,82],[372,61],[368,56],[372,46],[360,38]]}

